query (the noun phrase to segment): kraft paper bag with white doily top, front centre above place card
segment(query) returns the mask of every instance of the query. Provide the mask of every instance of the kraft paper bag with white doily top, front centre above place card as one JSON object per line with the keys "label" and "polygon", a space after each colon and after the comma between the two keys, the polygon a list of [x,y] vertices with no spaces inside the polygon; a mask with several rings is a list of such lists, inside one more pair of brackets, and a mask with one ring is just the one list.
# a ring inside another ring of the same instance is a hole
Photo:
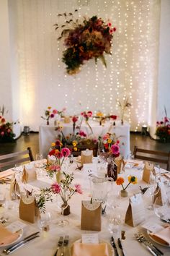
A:
{"label": "kraft paper bag with white doily top, front centre above place card", "polygon": [[101,231],[101,202],[81,202],[81,230]]}

